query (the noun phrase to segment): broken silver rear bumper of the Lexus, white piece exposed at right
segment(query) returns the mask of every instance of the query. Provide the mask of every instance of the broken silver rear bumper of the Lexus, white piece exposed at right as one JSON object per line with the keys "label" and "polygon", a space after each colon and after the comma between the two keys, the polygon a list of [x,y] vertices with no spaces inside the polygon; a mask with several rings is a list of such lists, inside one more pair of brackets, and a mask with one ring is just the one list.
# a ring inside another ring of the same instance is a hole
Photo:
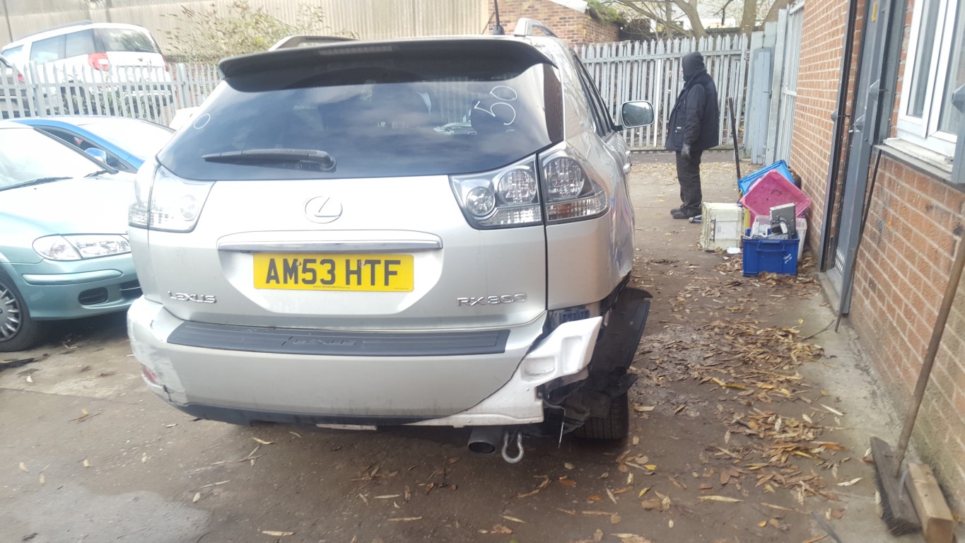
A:
{"label": "broken silver rear bumper of the Lexus, white piece exposed at right", "polygon": [[539,422],[538,387],[560,377],[586,376],[601,322],[595,317],[565,323],[534,345],[542,333],[541,316],[507,328],[501,352],[346,356],[175,343],[169,339],[184,321],[145,298],[127,315],[131,348],[156,376],[156,382],[145,378],[156,394],[193,416],[239,424]]}

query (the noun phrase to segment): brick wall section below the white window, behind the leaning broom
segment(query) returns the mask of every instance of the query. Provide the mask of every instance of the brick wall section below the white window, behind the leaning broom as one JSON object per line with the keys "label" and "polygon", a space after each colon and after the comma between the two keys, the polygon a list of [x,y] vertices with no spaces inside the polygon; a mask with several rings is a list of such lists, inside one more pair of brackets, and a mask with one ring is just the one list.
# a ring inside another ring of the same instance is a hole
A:
{"label": "brick wall section below the white window, behind the leaning broom", "polygon": [[[963,234],[965,192],[882,157],[849,318],[902,412]],[[965,285],[958,287],[915,430],[923,461],[958,511],[965,510]]]}

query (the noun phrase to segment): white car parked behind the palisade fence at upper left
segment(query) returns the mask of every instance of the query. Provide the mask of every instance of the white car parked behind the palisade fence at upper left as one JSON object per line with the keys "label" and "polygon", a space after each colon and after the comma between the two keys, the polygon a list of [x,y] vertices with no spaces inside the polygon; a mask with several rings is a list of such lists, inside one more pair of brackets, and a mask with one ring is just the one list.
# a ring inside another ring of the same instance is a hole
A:
{"label": "white car parked behind the palisade fence at upper left", "polygon": [[122,99],[160,104],[173,96],[171,73],[157,42],[146,28],[133,24],[87,21],[57,27],[8,43],[0,54],[28,83],[73,102],[104,89],[122,92]]}

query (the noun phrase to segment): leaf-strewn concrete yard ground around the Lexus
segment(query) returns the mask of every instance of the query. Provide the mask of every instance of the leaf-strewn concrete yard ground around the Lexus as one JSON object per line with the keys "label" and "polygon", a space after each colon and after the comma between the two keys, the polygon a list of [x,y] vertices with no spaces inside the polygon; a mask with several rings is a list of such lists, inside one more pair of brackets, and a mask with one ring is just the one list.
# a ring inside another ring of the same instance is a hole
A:
{"label": "leaf-strewn concrete yard ground around the Lexus", "polygon": [[[728,160],[707,157],[705,201],[736,200]],[[813,259],[743,277],[670,217],[675,179],[666,156],[634,166],[654,298],[626,442],[529,439],[510,465],[466,430],[194,421],[143,385],[123,315],[88,319],[0,356],[36,359],[0,370],[0,541],[921,540],[875,514],[869,437],[899,421],[847,321],[827,329]]]}

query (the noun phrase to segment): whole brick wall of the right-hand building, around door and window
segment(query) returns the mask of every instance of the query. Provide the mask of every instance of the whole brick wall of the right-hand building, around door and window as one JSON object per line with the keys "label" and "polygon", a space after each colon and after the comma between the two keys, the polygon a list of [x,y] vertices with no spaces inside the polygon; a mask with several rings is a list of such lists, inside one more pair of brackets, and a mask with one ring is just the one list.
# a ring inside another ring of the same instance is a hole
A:
{"label": "whole brick wall of the right-hand building, around door and window", "polygon": [[[859,13],[863,12],[862,7]],[[834,111],[843,54],[844,0],[805,6],[790,166],[813,199],[809,246],[824,222]],[[907,51],[912,6],[905,18]],[[857,60],[861,21],[853,59]],[[852,67],[855,65],[852,62]],[[898,73],[903,71],[902,58]],[[854,73],[851,74],[851,83]],[[850,98],[850,96],[849,96]],[[897,99],[896,99],[897,102]],[[895,119],[897,103],[892,108]],[[894,130],[893,130],[894,135]],[[843,176],[843,173],[841,174]],[[841,177],[840,177],[841,179]],[[839,187],[843,180],[839,182]],[[965,192],[883,156],[855,267],[850,322],[899,410],[908,407],[949,282],[957,244],[965,242]],[[959,287],[914,436],[953,508],[965,512],[965,285]],[[897,435],[897,429],[894,429]],[[914,455],[912,455],[914,457]]]}

